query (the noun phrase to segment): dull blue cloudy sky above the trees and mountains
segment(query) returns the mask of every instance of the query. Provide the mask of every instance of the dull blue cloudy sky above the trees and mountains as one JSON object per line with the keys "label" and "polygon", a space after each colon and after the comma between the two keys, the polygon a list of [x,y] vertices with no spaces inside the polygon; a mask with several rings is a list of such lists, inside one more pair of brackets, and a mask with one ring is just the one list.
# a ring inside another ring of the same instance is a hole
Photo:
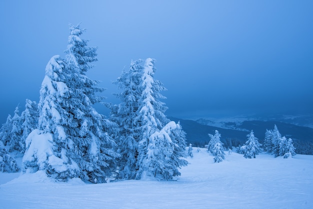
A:
{"label": "dull blue cloudy sky above the trees and mountains", "polygon": [[312,10],[312,0],[1,0],[0,122],[39,100],[46,63],[79,22],[98,46],[88,76],[106,101],[118,102],[111,82],[131,60],[151,57],[167,115],[312,113]]}

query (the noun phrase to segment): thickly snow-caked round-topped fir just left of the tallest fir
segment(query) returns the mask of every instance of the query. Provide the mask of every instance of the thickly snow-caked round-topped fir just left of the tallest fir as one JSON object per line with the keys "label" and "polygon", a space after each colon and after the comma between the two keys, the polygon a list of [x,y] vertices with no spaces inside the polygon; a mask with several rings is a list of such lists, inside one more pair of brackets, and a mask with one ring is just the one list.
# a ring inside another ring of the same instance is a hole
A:
{"label": "thickly snow-caked round-topped fir just left of the tallest fir", "polygon": [[69,74],[69,67],[59,55],[47,63],[40,88],[38,129],[32,130],[26,138],[23,156],[26,169],[33,172],[46,170],[49,176],[60,179],[78,177],[80,172],[78,164],[66,153],[78,149],[66,134],[68,120],[71,119],[63,108],[65,99],[69,97],[69,88],[64,83],[66,70]]}

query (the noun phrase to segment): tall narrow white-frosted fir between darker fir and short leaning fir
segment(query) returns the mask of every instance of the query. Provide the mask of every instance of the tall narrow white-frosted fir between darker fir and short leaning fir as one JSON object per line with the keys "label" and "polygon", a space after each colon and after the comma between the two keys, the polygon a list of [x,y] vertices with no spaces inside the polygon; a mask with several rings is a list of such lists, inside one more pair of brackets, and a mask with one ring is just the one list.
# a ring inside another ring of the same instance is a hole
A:
{"label": "tall narrow white-frosted fir between darker fir and short leaning fir", "polygon": [[[142,60],[143,61],[143,60]],[[138,143],[138,158],[136,162],[136,179],[142,178],[147,173],[147,154],[149,149],[153,148],[153,141],[149,140],[152,133],[160,130],[169,120],[164,115],[166,107],[159,99],[165,98],[160,91],[166,88],[158,80],[153,79],[155,72],[154,59],[147,58],[143,63],[141,74],[140,89],[141,94],[138,99],[139,107],[136,121],[140,122],[140,141]],[[151,143],[151,144],[149,144]],[[145,173],[143,173],[145,172]],[[152,176],[154,174],[152,173]]]}

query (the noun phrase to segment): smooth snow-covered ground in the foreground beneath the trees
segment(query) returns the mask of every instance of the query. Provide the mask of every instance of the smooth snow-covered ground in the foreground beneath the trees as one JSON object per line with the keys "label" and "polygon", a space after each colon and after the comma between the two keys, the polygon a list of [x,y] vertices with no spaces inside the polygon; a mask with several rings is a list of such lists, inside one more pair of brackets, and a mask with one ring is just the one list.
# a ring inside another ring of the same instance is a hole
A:
{"label": "smooth snow-covered ground in the foreground beneath the trees", "polygon": [[0,208],[313,208],[313,155],[220,163],[193,148],[176,181],[55,182],[44,173],[0,173]]}

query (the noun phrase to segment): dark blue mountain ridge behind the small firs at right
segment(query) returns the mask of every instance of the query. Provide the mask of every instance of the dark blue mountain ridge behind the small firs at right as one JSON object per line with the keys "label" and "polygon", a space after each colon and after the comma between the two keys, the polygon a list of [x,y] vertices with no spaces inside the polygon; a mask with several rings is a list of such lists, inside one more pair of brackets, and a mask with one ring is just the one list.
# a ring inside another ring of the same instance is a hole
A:
{"label": "dark blue mountain ridge behind the small firs at right", "polygon": [[[205,119],[190,120],[168,117],[169,119],[180,122],[183,130],[186,132],[187,143],[194,146],[204,147],[209,141],[208,133],[214,134],[218,130],[221,134],[221,141],[227,146],[231,140],[232,145],[243,144],[247,140],[247,134],[253,130],[254,135],[262,143],[266,129],[273,129],[276,124],[282,136],[292,138],[296,153],[313,154],[313,128],[306,126],[294,125],[279,121],[260,121],[260,120],[243,120],[224,123],[224,127],[207,125],[213,124],[212,121]],[[201,124],[202,123],[202,124]],[[220,121],[218,124],[221,124]]]}

